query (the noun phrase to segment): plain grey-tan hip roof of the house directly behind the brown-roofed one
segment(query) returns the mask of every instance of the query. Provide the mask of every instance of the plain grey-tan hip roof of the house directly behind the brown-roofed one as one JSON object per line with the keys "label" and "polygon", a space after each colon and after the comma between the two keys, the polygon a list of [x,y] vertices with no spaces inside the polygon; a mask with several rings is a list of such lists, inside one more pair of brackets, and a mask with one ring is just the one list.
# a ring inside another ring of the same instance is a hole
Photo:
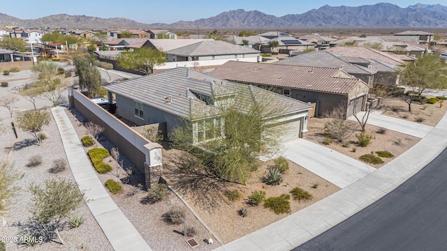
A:
{"label": "plain grey-tan hip roof of the house directly behind the brown-roofed one", "polygon": [[177,56],[212,56],[212,55],[231,55],[231,54],[261,54],[258,50],[241,45],[233,45],[232,43],[209,40],[174,50],[166,51],[166,54]]}

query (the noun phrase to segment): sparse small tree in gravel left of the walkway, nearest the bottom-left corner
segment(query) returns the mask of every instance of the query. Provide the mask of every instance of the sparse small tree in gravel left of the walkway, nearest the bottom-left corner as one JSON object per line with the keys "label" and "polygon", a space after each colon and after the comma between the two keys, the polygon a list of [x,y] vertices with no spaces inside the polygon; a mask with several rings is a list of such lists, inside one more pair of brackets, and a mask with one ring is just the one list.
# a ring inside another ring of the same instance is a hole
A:
{"label": "sparse small tree in gravel left of the walkway, nearest the bottom-left corner", "polygon": [[68,214],[78,208],[84,199],[84,193],[80,192],[75,183],[61,178],[45,180],[45,188],[31,184],[29,190],[34,201],[31,214],[42,226],[53,227],[59,241],[64,244],[59,229],[64,228],[64,219]]}

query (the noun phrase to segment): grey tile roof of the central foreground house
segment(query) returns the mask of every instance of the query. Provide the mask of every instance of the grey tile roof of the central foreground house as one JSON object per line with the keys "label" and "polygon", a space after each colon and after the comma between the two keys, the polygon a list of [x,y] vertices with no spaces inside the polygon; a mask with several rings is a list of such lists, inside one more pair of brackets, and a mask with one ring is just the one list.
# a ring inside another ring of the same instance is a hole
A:
{"label": "grey tile roof of the central foreground house", "polygon": [[[305,102],[293,100],[277,93],[256,89],[256,87],[247,84],[227,82],[218,77],[183,67],[109,84],[104,88],[170,114],[191,119],[203,119],[220,114],[218,107],[206,105],[205,102],[198,100],[193,92],[207,96],[228,96],[239,95],[239,93],[247,94],[247,90],[251,90],[250,93],[267,93],[268,96],[274,98],[274,102],[288,105],[287,112],[312,108]],[[240,92],[240,90],[244,91]],[[166,100],[169,97],[170,102]],[[247,97],[244,98],[247,99]],[[251,98],[256,98],[256,96]]]}

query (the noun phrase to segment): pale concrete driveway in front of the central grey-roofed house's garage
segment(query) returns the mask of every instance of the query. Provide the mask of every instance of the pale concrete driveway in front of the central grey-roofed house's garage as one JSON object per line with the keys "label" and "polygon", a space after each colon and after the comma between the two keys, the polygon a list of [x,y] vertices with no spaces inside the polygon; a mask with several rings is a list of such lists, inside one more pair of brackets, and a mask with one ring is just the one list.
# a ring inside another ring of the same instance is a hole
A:
{"label": "pale concrete driveway in front of the central grey-roofed house's garage", "polygon": [[284,158],[297,163],[339,188],[346,188],[376,170],[364,162],[306,139],[287,142],[283,147],[282,156]]}

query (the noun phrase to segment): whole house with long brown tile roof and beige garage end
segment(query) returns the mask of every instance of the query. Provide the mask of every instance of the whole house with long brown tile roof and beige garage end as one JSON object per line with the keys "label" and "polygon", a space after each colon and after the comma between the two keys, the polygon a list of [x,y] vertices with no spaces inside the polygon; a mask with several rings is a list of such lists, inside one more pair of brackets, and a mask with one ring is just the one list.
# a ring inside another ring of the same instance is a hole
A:
{"label": "whole house with long brown tile roof and beige garage end", "polygon": [[339,68],[228,61],[211,75],[232,82],[269,87],[284,96],[316,102],[316,116],[342,106],[351,116],[365,108],[369,86]]}

